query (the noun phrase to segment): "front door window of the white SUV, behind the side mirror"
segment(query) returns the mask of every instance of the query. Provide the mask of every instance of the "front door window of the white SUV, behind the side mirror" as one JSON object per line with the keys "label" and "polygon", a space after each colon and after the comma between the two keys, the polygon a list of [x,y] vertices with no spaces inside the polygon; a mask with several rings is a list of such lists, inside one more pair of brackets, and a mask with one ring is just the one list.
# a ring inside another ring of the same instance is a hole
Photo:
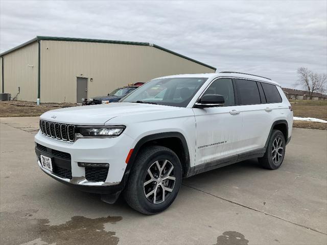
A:
{"label": "front door window of the white SUV, behind the side mirror", "polygon": [[224,106],[235,105],[233,83],[229,78],[221,78],[213,82],[204,94],[219,94],[225,99]]}

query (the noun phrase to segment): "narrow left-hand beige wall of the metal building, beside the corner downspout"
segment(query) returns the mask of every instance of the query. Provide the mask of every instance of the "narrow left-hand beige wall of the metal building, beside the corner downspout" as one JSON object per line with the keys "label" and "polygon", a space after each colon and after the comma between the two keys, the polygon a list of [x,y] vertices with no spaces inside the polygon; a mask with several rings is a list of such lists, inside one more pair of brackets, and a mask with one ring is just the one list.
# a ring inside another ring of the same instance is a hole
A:
{"label": "narrow left-hand beige wall of the metal building, beside the corner downspout", "polygon": [[[36,101],[38,76],[37,42],[4,55],[5,93],[14,97],[20,87],[17,100]],[[1,77],[1,76],[0,76]]]}

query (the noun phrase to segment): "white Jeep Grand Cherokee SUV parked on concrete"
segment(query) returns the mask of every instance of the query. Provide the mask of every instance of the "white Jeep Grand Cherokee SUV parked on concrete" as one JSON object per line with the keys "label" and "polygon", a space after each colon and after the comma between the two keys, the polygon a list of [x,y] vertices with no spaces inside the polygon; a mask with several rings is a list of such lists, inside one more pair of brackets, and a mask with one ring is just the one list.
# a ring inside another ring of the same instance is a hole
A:
{"label": "white Jeep Grand Cherokee SUV parked on concrete", "polygon": [[172,204],[182,178],[250,158],[281,166],[293,112],[276,82],[240,72],[153,79],[120,103],[45,112],[37,162],[52,178],[135,210]]}

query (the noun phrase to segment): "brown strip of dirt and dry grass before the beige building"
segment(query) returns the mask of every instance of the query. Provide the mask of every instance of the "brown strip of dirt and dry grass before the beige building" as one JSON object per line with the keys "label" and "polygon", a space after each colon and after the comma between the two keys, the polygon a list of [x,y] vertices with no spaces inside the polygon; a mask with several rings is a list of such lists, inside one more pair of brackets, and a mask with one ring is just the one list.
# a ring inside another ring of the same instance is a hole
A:
{"label": "brown strip of dirt and dry grass before the beige building", "polygon": [[76,106],[74,103],[41,103],[27,101],[1,101],[0,117],[11,116],[40,116],[46,111]]}

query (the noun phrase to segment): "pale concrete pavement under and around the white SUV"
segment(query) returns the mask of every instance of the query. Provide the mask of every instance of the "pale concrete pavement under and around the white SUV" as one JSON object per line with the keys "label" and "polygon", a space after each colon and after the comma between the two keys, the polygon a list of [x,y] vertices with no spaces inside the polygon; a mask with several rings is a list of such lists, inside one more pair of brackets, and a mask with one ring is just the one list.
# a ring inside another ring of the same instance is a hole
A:
{"label": "pale concrete pavement under and around the white SUV", "polygon": [[327,131],[294,129],[278,170],[244,161],[185,179],[145,216],[46,176],[37,117],[1,118],[1,244],[326,244]]}

